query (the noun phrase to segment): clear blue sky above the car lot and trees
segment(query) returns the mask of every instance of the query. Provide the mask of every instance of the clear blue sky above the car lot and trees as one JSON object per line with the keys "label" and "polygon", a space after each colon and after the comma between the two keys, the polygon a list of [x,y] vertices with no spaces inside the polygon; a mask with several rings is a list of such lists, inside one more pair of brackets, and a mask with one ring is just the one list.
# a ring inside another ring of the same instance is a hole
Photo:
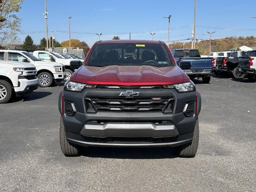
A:
{"label": "clear blue sky above the car lot and trees", "polygon": [[[197,0],[196,38],[226,36],[256,36],[256,0]],[[168,40],[191,38],[194,22],[194,0],[47,0],[48,31],[54,31],[56,40],[68,40],[68,17],[71,18],[71,38],[87,42],[90,46],[114,35],[128,39]],[[39,43],[45,37],[44,0],[24,0],[18,16],[22,18],[21,41],[26,35]],[[184,40],[185,41],[185,40]],[[188,40],[187,40],[188,41]]]}

